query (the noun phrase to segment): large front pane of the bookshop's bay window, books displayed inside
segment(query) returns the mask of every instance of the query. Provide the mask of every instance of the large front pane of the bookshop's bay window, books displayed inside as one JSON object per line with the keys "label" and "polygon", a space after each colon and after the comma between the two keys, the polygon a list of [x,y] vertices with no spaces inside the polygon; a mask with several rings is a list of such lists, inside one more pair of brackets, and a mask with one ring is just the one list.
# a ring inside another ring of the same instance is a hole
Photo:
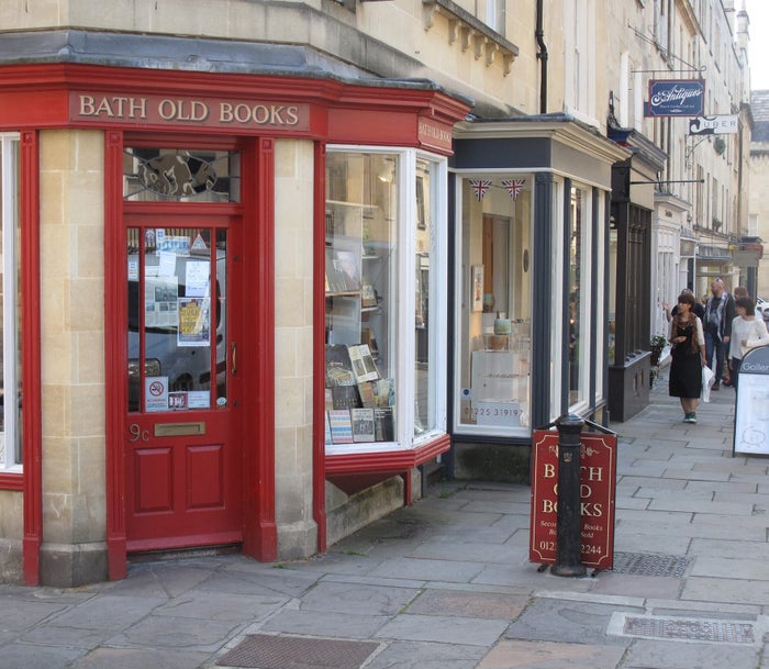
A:
{"label": "large front pane of the bookshop's bay window, books displayed inside", "polygon": [[326,158],[326,443],[395,439],[398,156]]}

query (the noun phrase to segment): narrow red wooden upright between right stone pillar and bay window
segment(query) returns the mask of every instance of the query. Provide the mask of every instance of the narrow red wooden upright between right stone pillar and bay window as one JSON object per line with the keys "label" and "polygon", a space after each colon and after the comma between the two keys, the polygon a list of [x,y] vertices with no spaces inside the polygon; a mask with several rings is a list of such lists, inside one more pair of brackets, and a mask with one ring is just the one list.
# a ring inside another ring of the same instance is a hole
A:
{"label": "narrow red wooden upright between right stone pillar and bay window", "polygon": [[312,392],[312,513],[317,525],[317,551],[325,553],[328,545],[326,523],[325,486],[325,191],[326,152],[323,144],[315,144],[315,190],[313,261],[313,392]]}

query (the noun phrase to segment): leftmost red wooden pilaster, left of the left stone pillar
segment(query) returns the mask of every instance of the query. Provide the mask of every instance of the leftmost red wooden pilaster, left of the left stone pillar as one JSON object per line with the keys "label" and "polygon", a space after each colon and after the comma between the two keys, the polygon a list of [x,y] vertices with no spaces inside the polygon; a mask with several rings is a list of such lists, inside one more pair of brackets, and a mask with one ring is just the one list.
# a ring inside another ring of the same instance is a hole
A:
{"label": "leftmost red wooden pilaster, left of the left stone pillar", "polygon": [[43,542],[43,427],[41,413],[40,316],[40,137],[21,133],[21,375],[24,466],[23,578],[40,583]]}

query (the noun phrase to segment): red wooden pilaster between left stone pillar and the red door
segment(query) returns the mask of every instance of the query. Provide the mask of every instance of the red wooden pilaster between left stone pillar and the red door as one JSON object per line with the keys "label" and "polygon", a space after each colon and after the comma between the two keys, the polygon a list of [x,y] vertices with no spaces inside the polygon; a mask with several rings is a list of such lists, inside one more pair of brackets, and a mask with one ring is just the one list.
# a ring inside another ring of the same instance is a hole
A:
{"label": "red wooden pilaster between left stone pillar and the red door", "polygon": [[125,226],[123,225],[123,133],[104,135],[104,378],[105,469],[107,469],[107,559],[112,580],[127,572],[125,544],[125,408],[127,406],[125,360],[127,348],[127,297],[125,275]]}

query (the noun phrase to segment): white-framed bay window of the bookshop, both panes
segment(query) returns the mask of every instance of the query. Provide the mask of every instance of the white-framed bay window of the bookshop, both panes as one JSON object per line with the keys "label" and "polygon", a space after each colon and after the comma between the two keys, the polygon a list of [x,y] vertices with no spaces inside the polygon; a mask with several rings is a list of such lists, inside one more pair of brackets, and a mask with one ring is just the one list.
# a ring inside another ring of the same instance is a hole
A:
{"label": "white-framed bay window of the bookshop, both panes", "polygon": [[326,453],[445,432],[445,160],[330,147],[325,198]]}

